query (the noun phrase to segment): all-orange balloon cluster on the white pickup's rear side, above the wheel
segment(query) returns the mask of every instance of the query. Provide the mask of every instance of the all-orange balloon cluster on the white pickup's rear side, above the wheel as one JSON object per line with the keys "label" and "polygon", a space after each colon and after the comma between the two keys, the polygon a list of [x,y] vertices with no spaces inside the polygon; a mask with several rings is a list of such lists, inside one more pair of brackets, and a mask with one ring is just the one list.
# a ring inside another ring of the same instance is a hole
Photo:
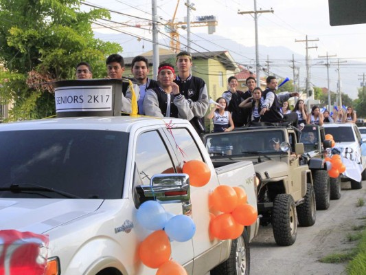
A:
{"label": "all-orange balloon cluster on the white pickup's rear side, above the wheel", "polygon": [[209,236],[220,240],[237,239],[243,232],[244,226],[251,225],[258,213],[247,203],[247,194],[240,187],[221,185],[214,189],[209,196],[211,214]]}

